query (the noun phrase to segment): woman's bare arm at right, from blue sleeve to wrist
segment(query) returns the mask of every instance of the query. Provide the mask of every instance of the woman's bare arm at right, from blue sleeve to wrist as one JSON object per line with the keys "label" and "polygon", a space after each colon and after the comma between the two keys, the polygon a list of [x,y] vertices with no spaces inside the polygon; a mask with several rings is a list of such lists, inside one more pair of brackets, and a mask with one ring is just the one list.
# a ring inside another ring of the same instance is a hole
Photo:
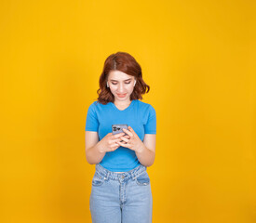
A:
{"label": "woman's bare arm at right, from blue sleeve to wrist", "polygon": [[135,151],[140,163],[144,166],[154,164],[155,137],[155,134],[145,134],[143,143],[141,143],[141,148]]}

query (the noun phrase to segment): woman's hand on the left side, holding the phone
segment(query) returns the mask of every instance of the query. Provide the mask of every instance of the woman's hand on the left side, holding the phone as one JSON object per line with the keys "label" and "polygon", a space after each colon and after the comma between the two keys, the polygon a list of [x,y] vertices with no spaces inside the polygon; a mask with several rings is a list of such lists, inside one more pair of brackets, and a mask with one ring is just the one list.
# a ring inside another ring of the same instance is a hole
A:
{"label": "woman's hand on the left side, holding the phone", "polygon": [[115,151],[120,145],[117,144],[117,141],[122,141],[121,137],[123,137],[125,133],[118,133],[113,135],[113,133],[107,134],[104,138],[99,142],[99,151]]}

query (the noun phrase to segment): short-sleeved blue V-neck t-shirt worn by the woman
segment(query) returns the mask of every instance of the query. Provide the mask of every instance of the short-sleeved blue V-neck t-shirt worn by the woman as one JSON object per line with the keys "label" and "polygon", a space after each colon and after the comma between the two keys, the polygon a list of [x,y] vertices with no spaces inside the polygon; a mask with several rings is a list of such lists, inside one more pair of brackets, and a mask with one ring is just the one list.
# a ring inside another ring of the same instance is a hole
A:
{"label": "short-sleeved blue V-neck t-shirt worn by the woman", "polygon": [[[112,132],[112,125],[127,124],[143,141],[145,134],[156,134],[156,114],[152,105],[141,100],[132,100],[128,108],[118,110],[113,102],[106,105],[94,101],[88,107],[86,131],[98,132],[99,140]],[[135,151],[119,147],[115,151],[107,151],[100,163],[104,168],[115,171],[129,171],[140,162]]]}

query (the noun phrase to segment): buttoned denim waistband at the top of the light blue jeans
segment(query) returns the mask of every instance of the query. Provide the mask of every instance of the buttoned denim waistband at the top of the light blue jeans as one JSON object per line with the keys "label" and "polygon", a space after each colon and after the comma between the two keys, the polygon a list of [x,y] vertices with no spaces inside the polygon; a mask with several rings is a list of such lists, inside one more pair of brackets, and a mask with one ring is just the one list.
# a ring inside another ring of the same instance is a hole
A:
{"label": "buttoned denim waistband at the top of the light blue jeans", "polygon": [[142,164],[140,164],[137,167],[135,167],[134,169],[129,170],[124,173],[116,173],[116,172],[107,170],[101,164],[96,164],[95,168],[96,168],[96,172],[98,174],[100,174],[101,177],[104,177],[104,179],[111,178],[114,180],[118,180],[120,178],[122,178],[123,180],[128,180],[129,178],[135,179],[136,177],[141,175],[141,173],[143,173],[147,169],[147,167]]}

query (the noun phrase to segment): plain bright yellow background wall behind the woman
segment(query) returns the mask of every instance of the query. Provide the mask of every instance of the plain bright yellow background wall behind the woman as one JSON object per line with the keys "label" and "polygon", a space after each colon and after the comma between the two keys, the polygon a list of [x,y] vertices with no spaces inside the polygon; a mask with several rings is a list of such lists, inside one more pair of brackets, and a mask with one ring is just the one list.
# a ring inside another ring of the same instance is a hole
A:
{"label": "plain bright yellow background wall behind the woman", "polygon": [[153,222],[256,222],[255,1],[1,1],[0,222],[91,222],[88,106],[125,51],[151,86]]}

